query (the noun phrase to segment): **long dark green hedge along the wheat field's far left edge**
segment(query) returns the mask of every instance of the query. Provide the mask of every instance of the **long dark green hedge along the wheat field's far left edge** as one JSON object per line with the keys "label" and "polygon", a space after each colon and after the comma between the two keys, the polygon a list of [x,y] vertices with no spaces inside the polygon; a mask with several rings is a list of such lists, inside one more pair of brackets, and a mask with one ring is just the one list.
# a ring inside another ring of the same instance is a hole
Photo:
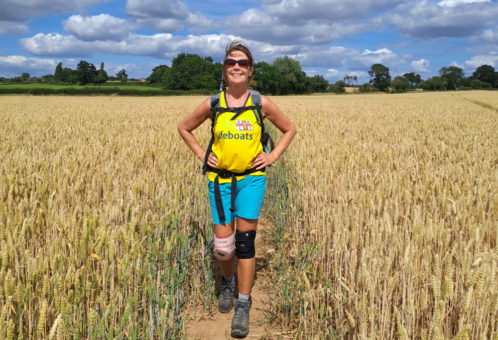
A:
{"label": "long dark green hedge along the wheat field's far left edge", "polygon": [[139,97],[149,97],[149,96],[185,96],[185,95],[212,95],[213,92],[210,90],[192,90],[192,91],[177,91],[177,90],[157,90],[157,89],[133,89],[132,87],[128,89],[117,88],[117,87],[94,87],[94,88],[78,88],[78,87],[67,87],[67,88],[12,88],[0,87],[0,95],[33,95],[33,96],[92,96],[92,95],[104,95],[104,96],[139,96]]}

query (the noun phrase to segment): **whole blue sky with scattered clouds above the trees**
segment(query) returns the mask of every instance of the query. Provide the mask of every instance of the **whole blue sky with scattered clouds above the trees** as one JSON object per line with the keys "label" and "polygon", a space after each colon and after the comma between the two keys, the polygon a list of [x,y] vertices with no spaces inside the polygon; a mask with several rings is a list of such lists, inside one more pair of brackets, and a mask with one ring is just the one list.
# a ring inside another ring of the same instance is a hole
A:
{"label": "whole blue sky with scattered clouds above the trees", "polygon": [[146,78],[178,53],[223,61],[244,40],[255,61],[290,56],[331,83],[372,64],[422,79],[443,66],[498,69],[498,0],[0,0],[0,76],[54,74],[85,60]]}

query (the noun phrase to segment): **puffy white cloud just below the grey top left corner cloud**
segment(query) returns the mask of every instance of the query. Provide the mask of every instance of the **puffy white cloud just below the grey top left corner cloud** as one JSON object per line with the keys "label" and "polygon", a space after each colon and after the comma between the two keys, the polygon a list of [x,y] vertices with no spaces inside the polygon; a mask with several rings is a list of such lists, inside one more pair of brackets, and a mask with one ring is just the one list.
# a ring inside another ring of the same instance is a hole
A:
{"label": "puffy white cloud just below the grey top left corner cloud", "polygon": [[62,21],[62,26],[68,33],[83,41],[120,41],[134,28],[126,19],[109,14],[72,15],[67,20]]}

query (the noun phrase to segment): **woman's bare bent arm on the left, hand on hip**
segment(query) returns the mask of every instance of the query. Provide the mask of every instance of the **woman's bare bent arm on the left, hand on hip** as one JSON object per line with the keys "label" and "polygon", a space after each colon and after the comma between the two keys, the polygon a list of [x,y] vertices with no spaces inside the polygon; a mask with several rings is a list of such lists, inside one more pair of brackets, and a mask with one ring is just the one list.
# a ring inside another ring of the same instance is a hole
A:
{"label": "woman's bare bent arm on the left, hand on hip", "polygon": [[[211,117],[211,106],[209,103],[209,98],[202,102],[192,113],[187,115],[178,124],[178,132],[182,136],[185,144],[194,151],[197,158],[204,162],[204,157],[206,152],[199,144],[192,131],[195,130],[199,125],[201,125],[206,119]],[[209,155],[208,164],[212,167],[218,164],[218,158],[216,158],[214,153]]]}

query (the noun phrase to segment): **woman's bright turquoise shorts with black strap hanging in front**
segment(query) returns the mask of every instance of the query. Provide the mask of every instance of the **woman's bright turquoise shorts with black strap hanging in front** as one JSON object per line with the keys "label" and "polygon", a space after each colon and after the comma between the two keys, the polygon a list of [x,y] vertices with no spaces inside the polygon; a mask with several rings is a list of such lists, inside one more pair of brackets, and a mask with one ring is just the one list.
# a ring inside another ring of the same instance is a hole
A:
{"label": "woman's bright turquoise shorts with black strap hanging in front", "polygon": [[223,201],[223,210],[227,220],[221,223],[218,217],[215,200],[215,183],[208,181],[209,204],[211,206],[211,214],[213,215],[213,223],[215,225],[227,224],[235,220],[236,216],[245,219],[259,219],[261,206],[263,205],[264,191],[266,189],[266,176],[256,175],[247,176],[246,178],[237,181],[235,191],[235,212],[230,211],[232,206],[232,183],[220,183],[221,199]]}

